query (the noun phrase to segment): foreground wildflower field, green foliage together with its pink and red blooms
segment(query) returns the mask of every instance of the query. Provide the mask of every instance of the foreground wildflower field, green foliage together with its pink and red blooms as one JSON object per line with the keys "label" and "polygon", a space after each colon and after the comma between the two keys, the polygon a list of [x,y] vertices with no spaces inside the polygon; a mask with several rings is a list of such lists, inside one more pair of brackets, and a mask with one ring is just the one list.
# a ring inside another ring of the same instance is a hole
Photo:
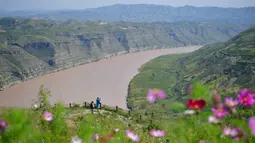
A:
{"label": "foreground wildflower field, green foliage together with its pink and red blooms", "polygon": [[[87,113],[67,116],[88,109],[66,108],[61,104],[51,107],[49,93],[40,91],[41,107],[33,109],[1,109],[0,141],[2,143],[227,143],[255,142],[255,94],[243,89],[237,95],[221,97],[214,91],[210,100],[199,95],[203,85],[189,90],[189,99],[183,104],[184,112],[176,118],[159,119],[158,116],[136,121],[132,115],[117,118],[109,114]],[[164,91],[151,89],[148,104],[167,98]],[[210,109],[210,110],[206,110]],[[104,110],[104,109],[102,109]],[[102,112],[102,111],[101,111]],[[167,116],[167,115],[165,115]],[[169,115],[171,116],[171,114]],[[125,122],[128,122],[126,124]]]}

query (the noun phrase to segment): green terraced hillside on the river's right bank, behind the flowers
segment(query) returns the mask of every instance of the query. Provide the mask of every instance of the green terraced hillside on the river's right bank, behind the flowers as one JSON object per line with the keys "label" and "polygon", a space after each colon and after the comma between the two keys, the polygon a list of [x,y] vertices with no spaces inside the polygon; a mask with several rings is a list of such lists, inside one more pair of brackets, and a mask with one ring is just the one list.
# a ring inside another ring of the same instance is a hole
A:
{"label": "green terraced hillside on the river's right bank, behind the flowers", "polygon": [[[130,83],[128,104],[143,112],[184,109],[178,101],[183,102],[195,81],[217,88],[223,95],[236,93],[240,87],[254,88],[255,27],[222,44],[204,46],[185,55],[161,56],[146,63]],[[146,104],[144,95],[149,88],[163,89],[168,99],[153,106]]]}

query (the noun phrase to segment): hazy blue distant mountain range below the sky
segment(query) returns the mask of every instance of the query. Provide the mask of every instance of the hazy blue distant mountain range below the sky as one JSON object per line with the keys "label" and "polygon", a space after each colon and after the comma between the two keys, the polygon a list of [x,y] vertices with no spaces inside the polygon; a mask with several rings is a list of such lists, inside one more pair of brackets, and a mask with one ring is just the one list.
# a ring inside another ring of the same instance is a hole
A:
{"label": "hazy blue distant mountain range below the sky", "polygon": [[255,7],[172,7],[163,5],[111,5],[85,10],[0,12],[0,17],[21,16],[39,19],[76,19],[85,21],[174,22],[221,21],[236,24],[255,24]]}

